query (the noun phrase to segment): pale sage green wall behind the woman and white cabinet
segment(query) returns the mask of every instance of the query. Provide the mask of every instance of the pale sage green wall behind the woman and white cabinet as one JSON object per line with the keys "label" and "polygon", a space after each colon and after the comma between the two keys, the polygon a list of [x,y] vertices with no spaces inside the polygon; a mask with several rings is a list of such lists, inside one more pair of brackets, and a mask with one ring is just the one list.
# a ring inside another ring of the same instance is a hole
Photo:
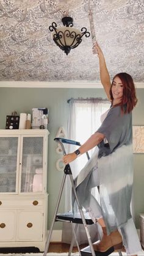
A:
{"label": "pale sage green wall behind the woman and white cabinet", "polygon": [[[143,97],[144,89],[137,89],[139,104],[133,112],[133,123],[144,125]],[[49,145],[48,145],[48,227],[51,225],[52,216],[59,195],[63,172],[56,170],[56,161],[59,155],[56,153],[57,144],[54,142],[59,127],[67,132],[68,103],[71,97],[103,97],[106,98],[103,89],[63,89],[63,88],[0,88],[0,129],[5,129],[5,117],[13,110],[20,113],[32,113],[32,108],[49,108]],[[144,213],[143,201],[143,154],[134,154],[134,206],[135,223],[139,227],[139,213]],[[61,200],[59,212],[63,212],[63,200]],[[54,229],[60,229],[61,224],[56,223]]]}

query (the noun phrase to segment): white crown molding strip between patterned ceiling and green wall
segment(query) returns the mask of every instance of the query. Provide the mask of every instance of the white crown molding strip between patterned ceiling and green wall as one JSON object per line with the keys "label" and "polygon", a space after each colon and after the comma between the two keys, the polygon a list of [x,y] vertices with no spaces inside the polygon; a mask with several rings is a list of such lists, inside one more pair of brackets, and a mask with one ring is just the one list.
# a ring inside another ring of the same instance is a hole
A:
{"label": "white crown molding strip between patterned ceiling and green wall", "polygon": [[[12,88],[102,88],[100,81],[0,81],[0,87]],[[135,83],[144,88],[144,82]]]}

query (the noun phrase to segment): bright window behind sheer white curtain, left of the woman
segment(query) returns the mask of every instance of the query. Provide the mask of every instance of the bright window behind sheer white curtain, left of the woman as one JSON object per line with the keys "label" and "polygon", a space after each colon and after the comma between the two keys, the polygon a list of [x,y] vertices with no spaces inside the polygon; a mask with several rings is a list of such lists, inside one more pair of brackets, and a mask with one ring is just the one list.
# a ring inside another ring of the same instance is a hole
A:
{"label": "bright window behind sheer white curtain, left of the woman", "polygon": [[[101,125],[101,115],[110,107],[108,100],[92,99],[71,99],[68,136],[71,140],[83,144]],[[71,148],[71,147],[70,147]],[[73,151],[73,148],[71,148]],[[91,156],[94,149],[88,152]],[[69,151],[71,152],[71,151]],[[85,155],[85,154],[84,154]],[[81,156],[77,159],[74,167],[75,175],[86,164],[87,157]]]}

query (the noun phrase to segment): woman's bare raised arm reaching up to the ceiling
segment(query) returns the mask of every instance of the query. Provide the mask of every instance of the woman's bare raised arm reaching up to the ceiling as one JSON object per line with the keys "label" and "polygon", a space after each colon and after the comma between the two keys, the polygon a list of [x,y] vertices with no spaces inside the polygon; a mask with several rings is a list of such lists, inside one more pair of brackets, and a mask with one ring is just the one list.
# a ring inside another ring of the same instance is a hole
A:
{"label": "woman's bare raised arm reaching up to the ceiling", "polygon": [[106,61],[104,59],[103,51],[99,47],[98,43],[94,43],[93,45],[93,53],[98,55],[99,58],[99,70],[100,70],[100,78],[101,78],[101,83],[104,86],[104,91],[106,91],[107,97],[110,100],[110,76],[109,72],[107,70],[106,66]]}

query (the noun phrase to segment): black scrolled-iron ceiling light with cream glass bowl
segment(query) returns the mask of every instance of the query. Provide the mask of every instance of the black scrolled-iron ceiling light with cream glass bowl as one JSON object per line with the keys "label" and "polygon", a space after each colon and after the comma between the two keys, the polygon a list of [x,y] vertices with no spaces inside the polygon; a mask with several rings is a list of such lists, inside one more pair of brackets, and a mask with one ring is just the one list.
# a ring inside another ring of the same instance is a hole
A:
{"label": "black scrolled-iron ceiling light with cream glass bowl", "polygon": [[71,49],[76,48],[81,42],[82,37],[90,36],[90,32],[86,28],[81,31],[73,27],[73,18],[63,17],[62,23],[64,27],[57,28],[57,24],[52,22],[49,30],[52,32],[52,39],[68,55]]}

